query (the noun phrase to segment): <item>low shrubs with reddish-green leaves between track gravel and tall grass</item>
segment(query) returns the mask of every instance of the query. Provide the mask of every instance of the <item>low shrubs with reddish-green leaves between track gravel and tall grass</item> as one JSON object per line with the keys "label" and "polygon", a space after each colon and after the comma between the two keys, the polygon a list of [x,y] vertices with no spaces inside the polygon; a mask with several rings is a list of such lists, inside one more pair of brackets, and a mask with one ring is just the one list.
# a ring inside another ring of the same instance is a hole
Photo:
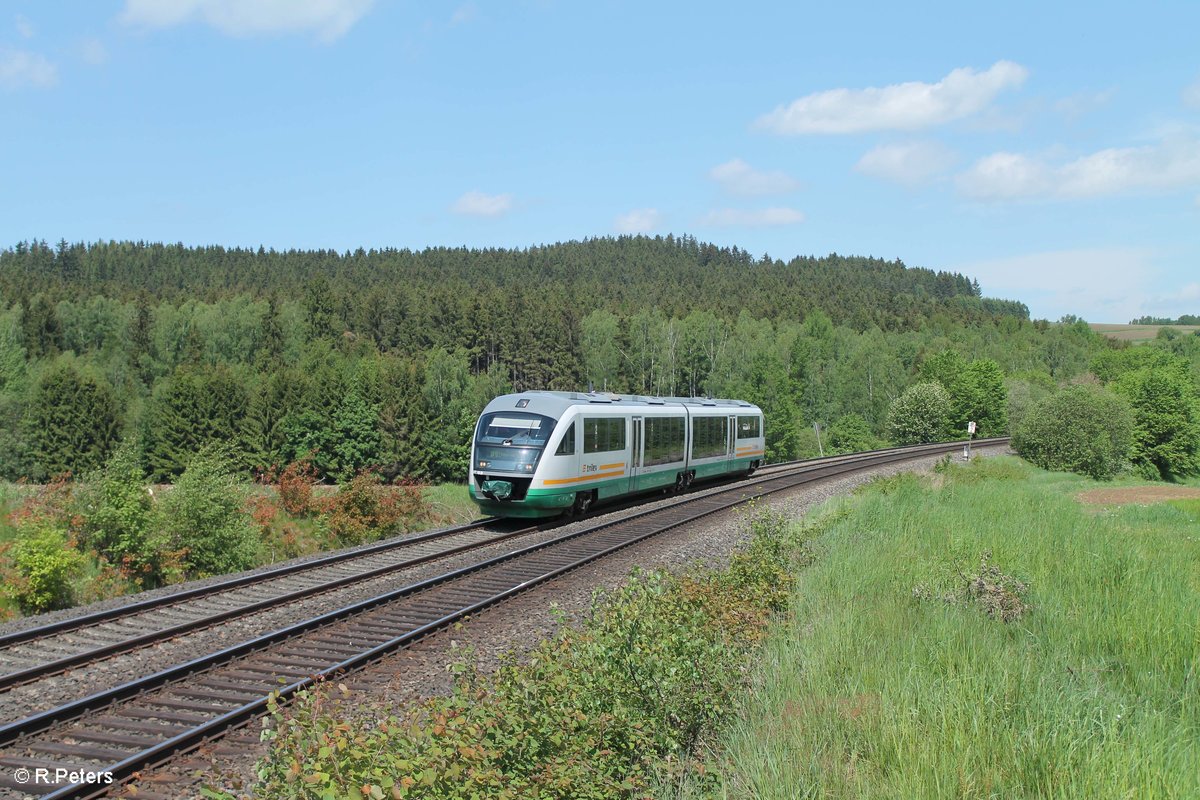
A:
{"label": "low shrubs with reddish-green leaves between track gravel and tall grass", "polygon": [[254,795],[600,800],[689,766],[703,781],[692,748],[731,711],[749,650],[785,607],[792,552],[768,521],[726,571],[636,573],[526,663],[461,668],[450,697],[403,717],[352,714],[362,709],[342,685],[274,705]]}

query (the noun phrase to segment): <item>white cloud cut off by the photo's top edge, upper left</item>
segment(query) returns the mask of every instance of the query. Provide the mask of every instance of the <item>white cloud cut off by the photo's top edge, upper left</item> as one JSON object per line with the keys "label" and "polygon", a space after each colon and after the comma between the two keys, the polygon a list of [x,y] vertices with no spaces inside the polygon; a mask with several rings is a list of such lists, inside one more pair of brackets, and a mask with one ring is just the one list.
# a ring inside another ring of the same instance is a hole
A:
{"label": "white cloud cut off by the photo's top edge, upper left", "polygon": [[348,31],[374,0],[125,0],[121,22],[172,28],[200,22],[229,36],[311,31],[331,42]]}

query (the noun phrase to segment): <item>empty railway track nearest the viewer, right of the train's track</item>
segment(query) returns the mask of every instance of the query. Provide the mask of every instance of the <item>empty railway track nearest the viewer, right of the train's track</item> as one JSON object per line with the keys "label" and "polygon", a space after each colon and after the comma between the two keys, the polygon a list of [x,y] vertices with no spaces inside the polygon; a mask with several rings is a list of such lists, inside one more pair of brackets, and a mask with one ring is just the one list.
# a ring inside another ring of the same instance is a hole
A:
{"label": "empty railway track nearest the viewer, right of the train's track", "polygon": [[[115,782],[127,780],[256,718],[272,691],[290,697],[318,676],[361,668],[456,619],[749,499],[959,446],[804,462],[727,489],[600,521],[6,724],[0,727],[0,787],[55,800],[100,796],[108,786],[66,778],[71,772],[92,772],[112,775]],[[65,777],[36,787],[13,778],[17,770],[30,775],[38,769],[48,776],[62,770]],[[143,790],[139,796],[156,795]]]}

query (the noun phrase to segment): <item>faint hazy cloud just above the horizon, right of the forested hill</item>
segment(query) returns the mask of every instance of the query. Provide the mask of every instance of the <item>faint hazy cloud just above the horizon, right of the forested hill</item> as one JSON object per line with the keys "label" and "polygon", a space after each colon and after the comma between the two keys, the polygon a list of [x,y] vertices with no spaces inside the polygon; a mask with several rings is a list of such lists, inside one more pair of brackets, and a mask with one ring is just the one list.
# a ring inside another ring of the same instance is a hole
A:
{"label": "faint hazy cloud just above the horizon, right of the forested hill", "polygon": [[1036,319],[1075,314],[1090,323],[1127,323],[1154,313],[1146,294],[1158,272],[1151,257],[1136,248],[1069,249],[950,269],[977,278],[986,296],[1020,300]]}

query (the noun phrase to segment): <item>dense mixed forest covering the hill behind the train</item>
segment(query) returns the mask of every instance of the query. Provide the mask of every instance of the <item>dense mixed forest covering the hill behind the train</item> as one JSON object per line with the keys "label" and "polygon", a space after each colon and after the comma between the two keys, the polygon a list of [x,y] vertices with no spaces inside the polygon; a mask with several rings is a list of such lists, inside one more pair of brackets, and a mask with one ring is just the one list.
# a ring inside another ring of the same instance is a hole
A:
{"label": "dense mixed forest covering the hill behind the train", "polygon": [[[1194,365],[1190,338],[1170,347]],[[1003,434],[1009,401],[1019,413],[1110,347],[962,275],[690,236],[19,242],[0,252],[0,476],[85,475],[125,441],[157,482],[211,443],[246,475],[308,458],[328,482],[462,480],[479,409],[526,389],[749,399],[776,459],[905,438],[889,413],[922,381],[948,392],[938,435],[968,419]]]}

